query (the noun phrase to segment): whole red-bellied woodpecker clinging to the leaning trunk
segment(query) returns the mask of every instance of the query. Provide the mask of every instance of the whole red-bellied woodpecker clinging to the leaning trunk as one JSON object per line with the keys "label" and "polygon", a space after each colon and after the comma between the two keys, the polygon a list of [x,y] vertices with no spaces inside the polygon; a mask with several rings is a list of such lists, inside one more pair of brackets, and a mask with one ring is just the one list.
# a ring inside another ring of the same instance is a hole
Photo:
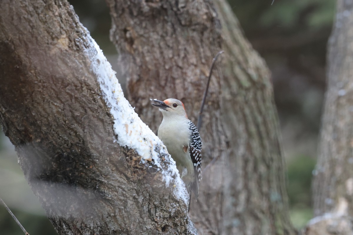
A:
{"label": "whole red-bellied woodpecker clinging to the leaning trunk", "polygon": [[[190,186],[198,198],[199,181],[201,180],[201,138],[196,126],[187,118],[183,102],[177,99],[160,101],[151,99],[159,108],[163,120],[158,128],[158,137],[172,156],[181,179]],[[191,197],[191,192],[190,192]],[[190,205],[189,205],[190,206]]]}

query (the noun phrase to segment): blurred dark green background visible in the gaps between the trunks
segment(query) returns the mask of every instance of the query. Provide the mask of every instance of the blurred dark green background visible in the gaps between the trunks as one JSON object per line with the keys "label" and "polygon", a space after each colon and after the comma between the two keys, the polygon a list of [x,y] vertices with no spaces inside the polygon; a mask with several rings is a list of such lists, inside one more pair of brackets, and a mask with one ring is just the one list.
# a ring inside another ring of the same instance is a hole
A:
{"label": "blurred dark green background visible in the gaps between the trunks", "polygon": [[[71,0],[80,21],[113,66],[116,50],[109,40],[110,16],[101,0]],[[291,217],[297,228],[312,217],[311,178],[325,89],[326,45],[335,1],[229,0],[245,36],[273,74],[283,149],[288,167]],[[124,81],[119,81],[124,87]],[[31,234],[55,234],[44,210],[23,178],[11,143],[0,136],[0,196]],[[0,207],[1,234],[17,235],[17,227]],[[32,231],[32,232],[31,232]]]}

